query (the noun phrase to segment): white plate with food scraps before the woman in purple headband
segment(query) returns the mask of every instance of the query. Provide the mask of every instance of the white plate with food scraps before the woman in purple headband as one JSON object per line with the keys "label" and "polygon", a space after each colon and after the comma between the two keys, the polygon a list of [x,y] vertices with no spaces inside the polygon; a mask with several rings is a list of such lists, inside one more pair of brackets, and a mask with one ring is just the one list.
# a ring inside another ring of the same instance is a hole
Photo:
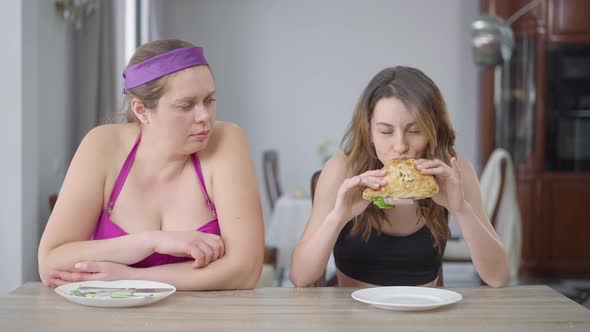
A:
{"label": "white plate with food scraps before the woman in purple headband", "polygon": [[82,281],[59,286],[55,292],[66,299],[92,307],[137,307],[165,299],[176,287],[157,281]]}

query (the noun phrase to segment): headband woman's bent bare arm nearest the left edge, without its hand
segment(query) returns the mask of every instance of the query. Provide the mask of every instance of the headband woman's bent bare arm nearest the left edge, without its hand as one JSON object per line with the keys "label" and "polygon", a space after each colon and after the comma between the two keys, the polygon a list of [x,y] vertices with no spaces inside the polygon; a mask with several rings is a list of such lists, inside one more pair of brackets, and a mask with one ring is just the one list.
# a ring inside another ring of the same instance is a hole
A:
{"label": "headband woman's bent bare arm nearest the left edge, without its hand", "polygon": [[149,256],[149,234],[89,241],[103,207],[106,166],[118,144],[116,125],[91,130],[80,144],[64,179],[59,198],[39,244],[39,274],[74,270],[80,261],[132,264]]}

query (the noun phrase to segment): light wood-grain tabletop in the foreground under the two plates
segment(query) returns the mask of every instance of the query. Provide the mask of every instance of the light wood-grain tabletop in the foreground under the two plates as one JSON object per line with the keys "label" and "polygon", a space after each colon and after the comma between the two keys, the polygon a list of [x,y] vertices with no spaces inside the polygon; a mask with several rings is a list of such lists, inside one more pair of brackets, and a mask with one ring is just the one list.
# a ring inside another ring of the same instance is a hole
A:
{"label": "light wood-grain tabletop in the foreground under the two plates", "polygon": [[374,308],[351,288],[178,292],[149,306],[93,308],[40,283],[0,297],[0,331],[590,331],[590,311],[547,286],[457,288],[463,300],[423,312]]}

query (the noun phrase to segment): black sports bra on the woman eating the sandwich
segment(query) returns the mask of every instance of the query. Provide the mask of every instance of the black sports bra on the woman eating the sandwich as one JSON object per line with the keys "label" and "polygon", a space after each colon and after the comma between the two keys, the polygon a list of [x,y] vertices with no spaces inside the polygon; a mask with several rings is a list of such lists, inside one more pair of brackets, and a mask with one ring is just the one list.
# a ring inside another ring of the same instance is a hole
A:
{"label": "black sports bra on the woman eating the sandwich", "polygon": [[336,267],[345,275],[378,286],[418,286],[438,276],[446,241],[439,253],[428,227],[408,236],[372,231],[365,242],[362,232],[350,235],[352,225],[342,229],[334,245]]}

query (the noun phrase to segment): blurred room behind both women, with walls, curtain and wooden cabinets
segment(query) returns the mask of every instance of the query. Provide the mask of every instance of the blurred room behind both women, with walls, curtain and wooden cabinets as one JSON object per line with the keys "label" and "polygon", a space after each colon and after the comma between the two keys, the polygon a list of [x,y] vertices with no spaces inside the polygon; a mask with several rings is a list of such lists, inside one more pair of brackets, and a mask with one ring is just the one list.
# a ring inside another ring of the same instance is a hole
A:
{"label": "blurred room behind both women, with walls, curtain and wooden cabinets", "polygon": [[[446,99],[512,283],[588,298],[588,1],[11,0],[0,15],[0,294],[38,280],[51,197],[84,134],[121,121],[121,72],[135,48],[177,38],[205,48],[218,119],[250,140],[270,285],[290,286],[312,175],[339,151],[362,89],[406,65]],[[479,285],[451,229],[445,286]]]}

